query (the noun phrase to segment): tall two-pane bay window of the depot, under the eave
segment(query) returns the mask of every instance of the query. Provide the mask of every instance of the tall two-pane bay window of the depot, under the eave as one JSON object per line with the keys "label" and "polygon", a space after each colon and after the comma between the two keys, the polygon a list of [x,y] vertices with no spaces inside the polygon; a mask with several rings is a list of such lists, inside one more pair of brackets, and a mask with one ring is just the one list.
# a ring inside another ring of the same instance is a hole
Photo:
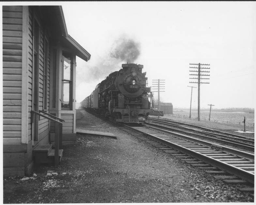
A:
{"label": "tall two-pane bay window of the depot, under the eave", "polygon": [[62,55],[62,97],[61,109],[72,110],[72,70],[73,62],[71,55]]}

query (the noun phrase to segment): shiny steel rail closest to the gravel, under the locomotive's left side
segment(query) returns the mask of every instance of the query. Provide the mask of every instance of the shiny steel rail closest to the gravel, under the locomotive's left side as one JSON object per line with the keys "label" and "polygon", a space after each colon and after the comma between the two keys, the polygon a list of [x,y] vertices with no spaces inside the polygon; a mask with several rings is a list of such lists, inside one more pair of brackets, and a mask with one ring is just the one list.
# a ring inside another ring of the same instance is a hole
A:
{"label": "shiny steel rail closest to the gravel, under the locomotive's left side", "polygon": [[[218,159],[215,159],[213,157],[209,157],[207,155],[204,155],[204,154],[201,154],[199,152],[196,152],[196,151],[193,151],[191,149],[188,149],[184,146],[181,146],[181,145],[178,145],[178,144],[175,144],[175,143],[172,143],[168,140],[164,140],[160,137],[157,137],[153,134],[149,134],[149,133],[146,133],[146,132],[143,132],[141,130],[138,130],[134,127],[130,127],[128,125],[124,125],[125,127],[129,128],[129,129],[132,129],[132,130],[136,130],[137,132],[141,132],[143,134],[146,134],[147,136],[149,136],[151,139],[154,139],[162,144],[165,144],[167,146],[172,146],[174,147],[175,149],[181,151],[181,152],[184,152],[188,155],[191,155],[193,157],[196,157],[198,159],[201,159],[203,161],[207,161],[208,163],[222,169],[222,170],[225,170],[229,173],[233,173],[235,175],[238,175],[239,177],[243,178],[243,179],[246,179],[248,180],[250,183],[254,184],[254,174],[252,172],[249,172],[249,171],[246,171],[246,170],[243,170],[243,169],[240,169],[240,168],[237,168],[233,165],[230,165],[228,163],[225,163],[223,161],[220,161]],[[159,129],[160,130],[160,129]],[[174,133],[175,134],[175,133]],[[197,140],[196,140],[197,141]],[[248,153],[247,153],[248,154]],[[254,159],[254,155],[253,155],[253,159]]]}

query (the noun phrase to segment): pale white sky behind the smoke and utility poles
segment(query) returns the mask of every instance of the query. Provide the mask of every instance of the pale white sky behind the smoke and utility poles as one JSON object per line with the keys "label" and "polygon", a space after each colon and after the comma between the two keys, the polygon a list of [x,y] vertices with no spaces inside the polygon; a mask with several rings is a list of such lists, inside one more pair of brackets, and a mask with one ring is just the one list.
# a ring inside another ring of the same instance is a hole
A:
{"label": "pale white sky behind the smoke and utility poles", "polygon": [[[197,87],[189,83],[189,63],[201,62],[210,64],[210,80],[204,81],[210,84],[201,84],[201,108],[211,103],[214,108],[254,107],[255,2],[73,2],[62,8],[68,34],[91,54],[88,62],[77,60],[77,75],[108,59],[113,42],[125,34],[140,43],[135,63],[144,65],[149,86],[152,79],[166,79],[162,102],[189,108],[187,86]],[[113,71],[122,63],[116,62]],[[77,102],[108,74],[77,79]],[[197,89],[192,107],[197,107]]]}

